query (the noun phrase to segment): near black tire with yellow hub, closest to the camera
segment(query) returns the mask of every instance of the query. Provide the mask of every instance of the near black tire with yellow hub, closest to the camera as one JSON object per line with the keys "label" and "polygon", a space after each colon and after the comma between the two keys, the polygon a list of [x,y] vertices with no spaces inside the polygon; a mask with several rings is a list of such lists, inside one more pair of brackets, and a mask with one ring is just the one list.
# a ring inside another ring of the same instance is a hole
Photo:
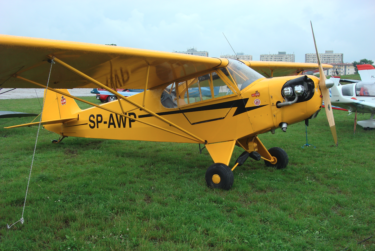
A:
{"label": "near black tire with yellow hub, closest to the camera", "polygon": [[[216,176],[216,180],[213,179],[214,175]],[[217,176],[219,176],[218,183]],[[208,167],[205,178],[207,186],[224,190],[231,189],[234,181],[232,170],[223,163],[215,163]]]}

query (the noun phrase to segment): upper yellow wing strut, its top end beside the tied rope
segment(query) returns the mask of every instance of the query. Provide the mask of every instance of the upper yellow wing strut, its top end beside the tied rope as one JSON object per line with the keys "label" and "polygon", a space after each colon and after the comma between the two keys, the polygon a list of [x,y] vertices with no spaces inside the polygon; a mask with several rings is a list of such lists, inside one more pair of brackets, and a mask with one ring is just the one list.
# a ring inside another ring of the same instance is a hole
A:
{"label": "upper yellow wing strut, its top end beside the tied rope", "polygon": [[[53,59],[56,63],[58,63],[59,65],[65,67],[65,68],[68,69],[69,71],[74,72],[74,73],[77,74],[78,76],[80,76],[80,77],[86,79],[87,81],[89,81],[89,82],[95,84],[96,86],[99,86],[99,87],[101,87],[101,88],[107,90],[108,92],[112,93],[113,95],[115,95],[115,96],[121,98],[123,101],[128,102],[129,104],[135,106],[135,107],[138,108],[139,110],[144,111],[145,113],[148,113],[148,114],[150,114],[151,116],[156,117],[157,119],[160,119],[161,121],[167,123],[168,125],[173,126],[174,128],[176,128],[176,129],[178,129],[178,130],[180,130],[180,131],[186,133],[186,134],[189,135],[190,137],[195,138],[195,139],[196,139],[195,141],[197,141],[197,142],[199,142],[199,143],[205,143],[204,140],[202,140],[201,138],[197,137],[196,135],[194,135],[194,134],[192,134],[192,133],[186,131],[185,129],[181,128],[180,126],[175,125],[174,123],[172,123],[172,122],[170,122],[170,121],[164,119],[163,117],[157,115],[157,114],[154,113],[153,111],[150,111],[150,110],[144,108],[142,105],[139,105],[139,104],[137,104],[136,102],[134,102],[134,101],[132,101],[132,100],[130,100],[130,99],[127,99],[126,97],[124,97],[124,96],[121,95],[120,93],[118,93],[118,92],[112,90],[111,88],[105,86],[104,84],[102,84],[102,83],[96,81],[95,79],[93,79],[93,78],[87,76],[87,75],[84,74],[83,72],[78,71],[77,69],[73,68],[72,66],[68,65],[67,63],[64,63],[64,62],[61,61],[60,59],[57,59],[57,58],[55,58],[54,56],[47,56],[47,57],[49,57],[50,59]],[[124,114],[121,114],[121,116],[124,116]],[[132,118],[132,119],[133,119],[133,118]],[[144,123],[144,122],[143,122],[143,123]]]}

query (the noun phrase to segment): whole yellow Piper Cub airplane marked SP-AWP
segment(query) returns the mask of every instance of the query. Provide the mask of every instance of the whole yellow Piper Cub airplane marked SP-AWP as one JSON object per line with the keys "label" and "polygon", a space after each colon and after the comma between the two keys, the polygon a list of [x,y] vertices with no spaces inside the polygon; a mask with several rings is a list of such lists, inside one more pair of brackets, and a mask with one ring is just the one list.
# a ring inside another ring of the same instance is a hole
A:
{"label": "whole yellow Piper Cub airplane marked SP-AWP", "polygon": [[[60,134],[58,141],[72,136],[205,144],[214,161],[205,174],[207,185],[222,189],[231,188],[234,168],[249,156],[285,168],[287,153],[267,150],[258,135],[315,117],[320,89],[328,91],[323,78],[319,83],[315,76],[298,75],[318,68],[307,63],[265,64],[7,35],[0,36],[0,56],[3,87],[47,89],[41,124]],[[276,77],[282,74],[297,76]],[[93,104],[70,95],[66,89],[74,87],[103,88],[117,100]],[[117,89],[145,91],[124,97]],[[81,110],[74,99],[94,107]],[[229,168],[235,146],[244,152]]]}

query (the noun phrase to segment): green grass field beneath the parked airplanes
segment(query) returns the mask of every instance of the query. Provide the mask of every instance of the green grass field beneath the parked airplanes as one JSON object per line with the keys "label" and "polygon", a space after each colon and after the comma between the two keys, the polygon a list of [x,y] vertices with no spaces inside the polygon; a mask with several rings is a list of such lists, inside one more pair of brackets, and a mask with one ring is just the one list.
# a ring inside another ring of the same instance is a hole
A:
{"label": "green grass field beneath the parked airplanes", "polygon": [[[96,102],[94,97],[87,98]],[[40,101],[42,102],[42,101]],[[2,100],[38,113],[37,99]],[[1,108],[0,110],[5,110]],[[308,127],[260,135],[289,155],[284,170],[250,158],[229,191],[210,189],[213,164],[196,144],[65,138],[41,130],[21,218],[36,129],[2,129],[0,250],[375,250],[375,131],[324,109]],[[359,120],[369,115],[359,115]],[[4,123],[10,119],[2,119]],[[230,165],[242,153],[235,148]]]}

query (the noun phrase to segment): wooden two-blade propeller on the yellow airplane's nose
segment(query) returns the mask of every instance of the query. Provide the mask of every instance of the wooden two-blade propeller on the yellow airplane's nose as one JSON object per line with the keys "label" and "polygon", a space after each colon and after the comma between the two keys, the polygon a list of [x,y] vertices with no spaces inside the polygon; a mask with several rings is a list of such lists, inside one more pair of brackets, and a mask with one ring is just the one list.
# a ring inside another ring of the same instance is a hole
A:
{"label": "wooden two-blade propeller on the yellow airplane's nose", "polygon": [[310,21],[310,24],[311,24],[312,37],[314,38],[315,51],[317,52],[317,58],[318,58],[319,75],[320,75],[319,87],[322,92],[324,107],[326,108],[327,120],[328,120],[329,127],[331,129],[331,132],[332,132],[333,140],[335,141],[336,146],[338,146],[339,143],[337,140],[335,120],[333,119],[333,112],[332,112],[331,99],[329,96],[329,89],[326,87],[327,78],[326,78],[326,75],[324,74],[323,66],[320,62],[317,43],[315,42],[314,30],[312,29],[311,21]]}

